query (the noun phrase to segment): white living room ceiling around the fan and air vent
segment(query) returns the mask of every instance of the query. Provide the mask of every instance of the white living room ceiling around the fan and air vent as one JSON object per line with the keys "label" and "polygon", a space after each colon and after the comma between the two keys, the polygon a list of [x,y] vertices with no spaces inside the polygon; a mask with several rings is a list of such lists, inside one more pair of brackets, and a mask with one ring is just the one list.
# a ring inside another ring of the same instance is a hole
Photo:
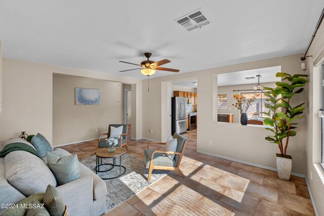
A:
{"label": "white living room ceiling around the fan and air vent", "polygon": [[[151,52],[183,73],[302,53],[323,7],[322,0],[0,0],[0,40],[4,57],[144,79],[139,70],[119,73],[136,66],[118,61],[140,63]],[[212,24],[186,31],[173,21],[198,8]]]}

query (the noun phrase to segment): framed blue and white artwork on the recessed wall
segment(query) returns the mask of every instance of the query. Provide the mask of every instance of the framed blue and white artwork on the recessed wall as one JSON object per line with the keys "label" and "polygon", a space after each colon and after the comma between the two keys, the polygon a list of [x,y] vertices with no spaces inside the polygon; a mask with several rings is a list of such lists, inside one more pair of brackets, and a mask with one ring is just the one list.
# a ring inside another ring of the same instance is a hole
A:
{"label": "framed blue and white artwork on the recessed wall", "polygon": [[75,105],[100,104],[100,89],[75,88]]}

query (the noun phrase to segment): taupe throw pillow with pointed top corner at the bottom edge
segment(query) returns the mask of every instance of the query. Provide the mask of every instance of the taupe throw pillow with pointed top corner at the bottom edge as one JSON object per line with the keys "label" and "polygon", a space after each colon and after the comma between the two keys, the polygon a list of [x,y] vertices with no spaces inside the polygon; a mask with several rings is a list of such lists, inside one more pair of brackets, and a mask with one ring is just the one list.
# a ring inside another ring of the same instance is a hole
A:
{"label": "taupe throw pillow with pointed top corner at the bottom edge", "polygon": [[44,205],[51,216],[62,216],[65,204],[60,192],[52,185],[47,186],[44,194]]}

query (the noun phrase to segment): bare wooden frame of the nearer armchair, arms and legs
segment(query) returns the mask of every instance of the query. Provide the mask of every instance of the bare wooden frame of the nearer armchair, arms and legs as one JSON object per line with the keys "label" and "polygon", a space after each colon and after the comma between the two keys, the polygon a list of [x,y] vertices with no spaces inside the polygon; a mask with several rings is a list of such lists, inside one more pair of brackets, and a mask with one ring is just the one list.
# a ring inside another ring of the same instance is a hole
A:
{"label": "bare wooden frame of the nearer armchair, arms and legs", "polygon": [[[166,143],[149,142],[148,145],[147,145],[147,149],[149,149],[150,144],[166,145]],[[153,169],[175,170],[175,171],[178,172],[178,174],[182,178],[184,178],[185,176],[183,175],[183,172],[180,170],[179,166],[180,166],[180,163],[181,163],[181,159],[182,159],[182,156],[183,156],[183,151],[184,151],[184,148],[186,147],[186,144],[187,144],[187,141],[185,141],[183,143],[181,152],[161,151],[161,150],[155,150],[155,151],[153,151],[152,154],[151,154],[150,165],[148,167],[148,178],[147,178],[147,181],[148,182],[151,181],[151,175],[152,175]],[[173,167],[173,166],[154,166],[154,164],[153,164],[153,156],[154,156],[155,153],[177,154],[177,155],[179,155],[178,163],[177,163],[177,165],[175,167]]]}

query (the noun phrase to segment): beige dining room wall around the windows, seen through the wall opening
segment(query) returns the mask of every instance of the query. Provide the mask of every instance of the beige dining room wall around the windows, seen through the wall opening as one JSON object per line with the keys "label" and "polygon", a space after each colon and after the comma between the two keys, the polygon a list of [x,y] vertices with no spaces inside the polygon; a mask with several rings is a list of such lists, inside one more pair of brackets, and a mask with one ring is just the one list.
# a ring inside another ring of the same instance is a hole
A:
{"label": "beige dining room wall around the windows, seen through the wall opening", "polygon": [[[264,87],[274,88],[274,82],[261,83]],[[244,85],[226,85],[218,87],[218,95],[227,95],[227,109],[218,109],[218,113],[233,113],[233,123],[238,123],[240,118],[240,112],[234,106],[235,100],[233,95],[239,94],[239,92],[233,92],[233,90],[245,90],[253,89],[253,84],[244,84]],[[251,91],[250,91],[251,92]],[[215,107],[217,109],[217,106]]]}

